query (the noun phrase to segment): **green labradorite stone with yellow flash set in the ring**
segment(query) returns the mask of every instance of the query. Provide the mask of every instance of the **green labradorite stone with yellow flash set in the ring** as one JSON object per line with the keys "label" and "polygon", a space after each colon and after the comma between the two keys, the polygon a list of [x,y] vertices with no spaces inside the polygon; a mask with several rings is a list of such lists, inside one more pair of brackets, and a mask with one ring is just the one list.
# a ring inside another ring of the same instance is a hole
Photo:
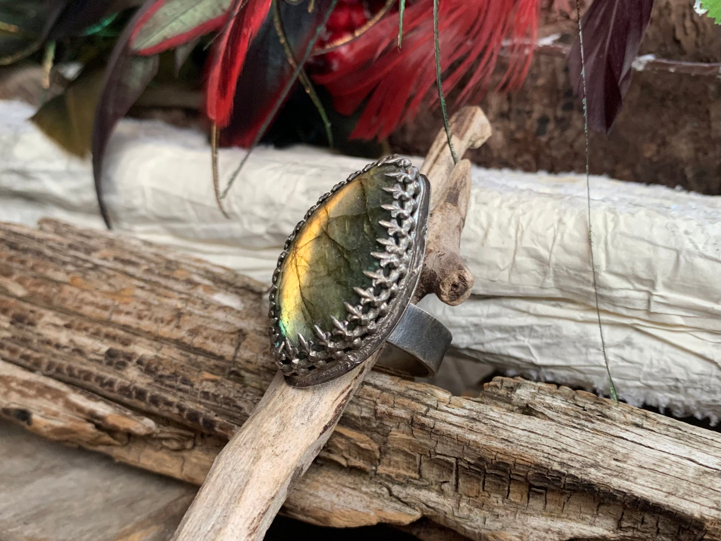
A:
{"label": "green labradorite stone with yellow flash set in the ring", "polygon": [[379,262],[371,252],[384,250],[376,239],[388,237],[379,220],[389,220],[381,208],[393,196],[383,188],[394,185],[392,165],[373,167],[327,198],[296,235],[278,276],[280,333],[298,346],[298,333],[315,339],[313,325],[332,330],[331,317],[345,320],[343,302],[359,304],[353,287],[366,288]]}

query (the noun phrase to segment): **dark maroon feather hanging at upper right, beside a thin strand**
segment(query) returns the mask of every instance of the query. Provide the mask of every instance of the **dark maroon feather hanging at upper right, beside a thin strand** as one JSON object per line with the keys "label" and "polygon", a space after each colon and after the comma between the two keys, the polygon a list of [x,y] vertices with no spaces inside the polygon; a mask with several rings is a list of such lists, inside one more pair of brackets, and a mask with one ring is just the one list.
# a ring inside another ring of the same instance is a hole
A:
{"label": "dark maroon feather hanging at upper right, beside a thin strand", "polygon": [[[651,17],[653,0],[595,0],[583,15],[588,126],[608,132],[631,82],[631,65]],[[583,95],[580,41],[568,58],[573,88]]]}

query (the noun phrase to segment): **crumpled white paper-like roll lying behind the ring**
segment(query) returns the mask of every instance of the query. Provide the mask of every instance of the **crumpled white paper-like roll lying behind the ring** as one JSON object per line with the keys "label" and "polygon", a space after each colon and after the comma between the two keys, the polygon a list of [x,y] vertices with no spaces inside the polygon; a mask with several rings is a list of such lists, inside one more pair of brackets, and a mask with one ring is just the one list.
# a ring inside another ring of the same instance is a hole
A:
{"label": "crumpled white paper-like roll lying behind the ring", "polygon": [[[0,102],[0,219],[102,226],[88,160],[68,157]],[[224,149],[223,184],[245,151]],[[418,165],[421,159],[415,159]],[[305,211],[366,161],[309,147],[253,151],[218,211],[205,136],[124,120],[103,188],[114,228],[269,282]],[[459,307],[423,306],[457,352],[510,374],[607,392],[582,175],[474,167],[461,253],[476,279]],[[603,335],[619,396],[721,417],[721,198],[591,177]]]}

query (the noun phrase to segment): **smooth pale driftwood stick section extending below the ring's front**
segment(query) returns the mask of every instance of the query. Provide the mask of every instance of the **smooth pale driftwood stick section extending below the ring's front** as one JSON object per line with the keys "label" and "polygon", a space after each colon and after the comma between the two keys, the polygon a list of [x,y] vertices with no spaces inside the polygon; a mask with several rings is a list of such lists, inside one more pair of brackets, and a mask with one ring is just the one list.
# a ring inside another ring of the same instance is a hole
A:
{"label": "smooth pale driftwood stick section extending below the ring's front", "polygon": [[218,454],[173,539],[262,539],[375,360],[324,384],[322,391],[291,387],[278,371]]}

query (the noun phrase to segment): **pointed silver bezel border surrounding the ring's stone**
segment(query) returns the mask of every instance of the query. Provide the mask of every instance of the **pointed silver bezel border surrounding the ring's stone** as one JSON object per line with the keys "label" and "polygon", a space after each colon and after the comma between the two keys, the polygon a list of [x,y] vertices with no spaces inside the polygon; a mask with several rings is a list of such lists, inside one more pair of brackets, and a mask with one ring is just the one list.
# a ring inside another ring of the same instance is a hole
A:
{"label": "pointed silver bezel border surrounding the ring's stone", "polygon": [[[389,212],[389,219],[379,221],[388,231],[388,237],[377,239],[384,249],[371,252],[379,260],[380,268],[375,272],[364,271],[371,278],[371,286],[366,289],[355,288],[361,304],[345,302],[347,317],[342,321],[333,318],[335,328],[324,330],[314,325],[315,336],[306,337],[298,333],[299,346],[293,346],[280,333],[278,307],[275,303],[280,267],[293,240],[311,214],[327,198],[358,175],[373,167],[388,164],[397,167],[396,172],[386,174],[397,182],[392,187],[384,188],[392,194],[393,202],[382,206]],[[423,266],[429,199],[428,179],[412,166],[410,159],[393,155],[368,164],[363,170],[339,182],[322,195],[298,222],[278,257],[269,294],[268,334],[271,351],[288,383],[296,387],[308,387],[345,374],[366,360],[392,333],[410,303]]]}

